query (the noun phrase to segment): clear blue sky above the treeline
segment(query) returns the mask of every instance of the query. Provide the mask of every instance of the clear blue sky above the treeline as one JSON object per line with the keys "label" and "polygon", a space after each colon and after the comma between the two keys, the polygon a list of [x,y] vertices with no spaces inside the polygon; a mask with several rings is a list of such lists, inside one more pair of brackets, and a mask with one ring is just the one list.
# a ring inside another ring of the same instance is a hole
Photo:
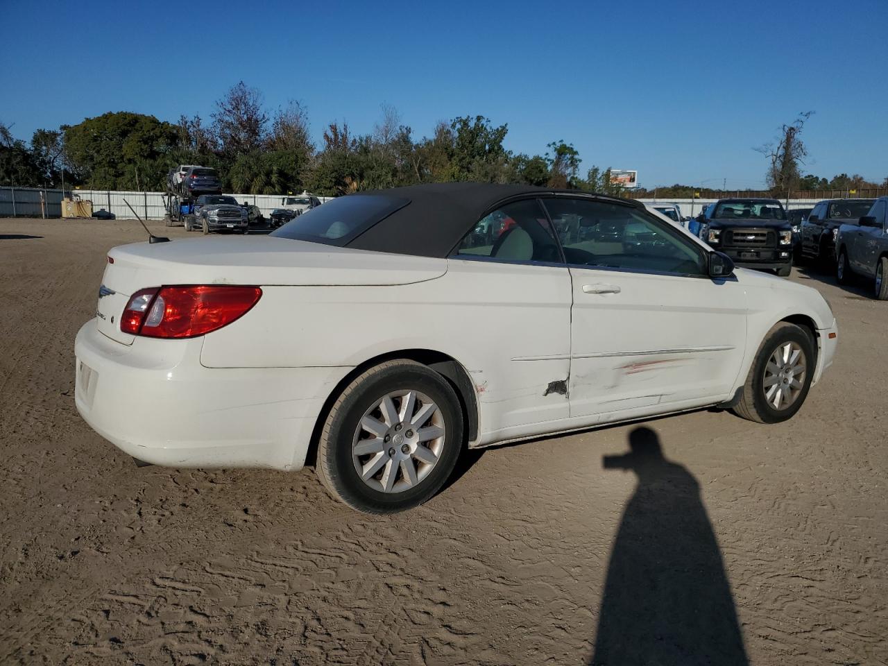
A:
{"label": "clear blue sky above the treeline", "polygon": [[0,121],[22,139],[106,111],[209,119],[243,80],[269,111],[300,100],[315,139],[333,120],[371,131],[383,103],[417,137],[480,114],[508,123],[515,152],[565,139],[583,172],[638,169],[644,186],[761,186],[753,147],[813,110],[806,171],[888,177],[888,0],[0,0],[0,14]]}

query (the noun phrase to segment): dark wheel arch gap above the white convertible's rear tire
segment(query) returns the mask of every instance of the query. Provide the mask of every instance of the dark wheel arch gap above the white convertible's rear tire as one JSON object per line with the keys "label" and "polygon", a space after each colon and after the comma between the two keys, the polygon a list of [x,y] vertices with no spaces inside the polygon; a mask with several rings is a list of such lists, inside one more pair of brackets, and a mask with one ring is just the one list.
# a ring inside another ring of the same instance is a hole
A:
{"label": "dark wheel arch gap above the white convertible's rear tire", "polygon": [[312,439],[308,444],[308,450],[305,453],[305,464],[314,465],[317,459],[318,440],[321,437],[321,430],[327,421],[330,408],[336,402],[339,395],[345,390],[355,377],[366,372],[380,363],[386,361],[416,361],[424,366],[434,370],[441,377],[444,377],[448,383],[456,391],[456,397],[459,399],[460,408],[463,411],[466,441],[476,440],[478,438],[479,427],[479,408],[478,396],[475,387],[472,384],[472,377],[469,375],[462,363],[456,361],[452,356],[437,352],[432,349],[400,349],[394,352],[386,352],[378,354],[367,361],[355,366],[345,377],[339,380],[332,391],[329,392],[327,399],[324,400],[321,411],[318,413],[317,420],[312,430]]}

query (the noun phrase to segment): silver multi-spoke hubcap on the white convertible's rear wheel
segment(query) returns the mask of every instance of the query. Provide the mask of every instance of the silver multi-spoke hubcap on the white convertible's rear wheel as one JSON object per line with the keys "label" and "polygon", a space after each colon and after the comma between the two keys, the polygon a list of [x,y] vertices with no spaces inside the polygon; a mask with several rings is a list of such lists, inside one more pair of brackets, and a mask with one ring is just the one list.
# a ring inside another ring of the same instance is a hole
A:
{"label": "silver multi-spoke hubcap on the white convertible's rear wheel", "polygon": [[444,416],[427,395],[386,393],[364,412],[354,432],[354,469],[374,490],[403,492],[432,472],[445,436]]}

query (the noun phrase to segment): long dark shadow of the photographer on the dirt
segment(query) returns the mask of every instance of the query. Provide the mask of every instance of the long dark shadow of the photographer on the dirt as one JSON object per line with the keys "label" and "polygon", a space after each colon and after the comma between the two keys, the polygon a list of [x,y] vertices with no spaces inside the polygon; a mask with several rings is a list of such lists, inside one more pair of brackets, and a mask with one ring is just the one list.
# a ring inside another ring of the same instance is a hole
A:
{"label": "long dark shadow of the photographer on the dirt", "polygon": [[635,472],[607,567],[593,666],[745,666],[731,587],[700,485],[662,456],[650,428],[630,433],[630,452],[606,469]]}

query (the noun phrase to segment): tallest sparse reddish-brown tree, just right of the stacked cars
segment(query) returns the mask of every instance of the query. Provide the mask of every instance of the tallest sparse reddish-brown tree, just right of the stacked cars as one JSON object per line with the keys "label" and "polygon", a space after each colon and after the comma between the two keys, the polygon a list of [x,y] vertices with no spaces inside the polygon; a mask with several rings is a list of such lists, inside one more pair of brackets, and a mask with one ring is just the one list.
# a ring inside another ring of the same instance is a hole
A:
{"label": "tallest sparse reddish-brown tree, just right of the stacked cars", "polygon": [[218,99],[212,118],[222,152],[229,158],[258,150],[266,139],[268,116],[262,110],[262,96],[242,81]]}

